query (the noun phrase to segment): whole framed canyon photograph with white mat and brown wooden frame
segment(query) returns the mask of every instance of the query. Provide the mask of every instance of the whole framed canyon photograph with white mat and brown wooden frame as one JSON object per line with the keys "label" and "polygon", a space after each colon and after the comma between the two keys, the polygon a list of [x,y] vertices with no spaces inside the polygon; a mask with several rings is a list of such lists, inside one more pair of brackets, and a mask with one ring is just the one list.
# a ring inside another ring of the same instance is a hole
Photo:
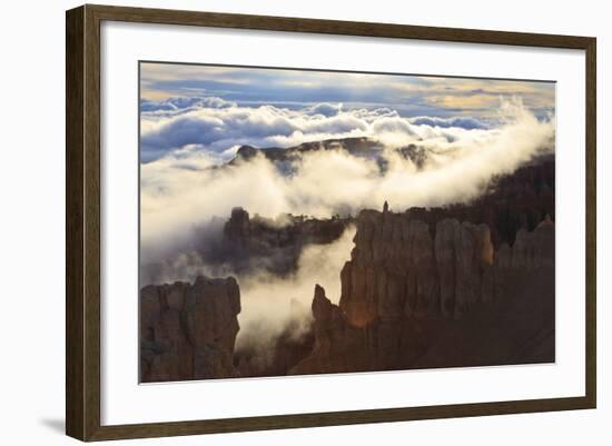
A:
{"label": "whole framed canyon photograph with white mat and brown wooden frame", "polygon": [[67,434],[595,407],[595,39],[67,12]]}

